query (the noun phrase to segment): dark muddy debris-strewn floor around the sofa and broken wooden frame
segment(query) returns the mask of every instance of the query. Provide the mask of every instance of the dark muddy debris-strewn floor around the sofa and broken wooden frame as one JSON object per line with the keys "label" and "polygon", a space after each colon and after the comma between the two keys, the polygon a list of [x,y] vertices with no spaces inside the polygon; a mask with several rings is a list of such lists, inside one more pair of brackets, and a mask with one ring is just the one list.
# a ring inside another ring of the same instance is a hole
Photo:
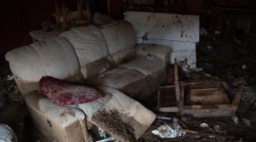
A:
{"label": "dark muddy debris-strewn floor around the sofa and broken wooden frame", "polygon": [[[210,47],[208,48],[207,47]],[[239,109],[236,112],[238,123],[232,117],[177,117],[181,127],[197,132],[187,133],[183,137],[161,138],[154,136],[151,131],[166,122],[155,120],[154,124],[138,141],[256,141],[256,42],[255,37],[247,35],[204,35],[197,45],[197,67],[204,74],[219,77],[225,83],[227,94],[234,96],[240,85],[245,86],[242,92]],[[1,93],[6,95],[6,104],[0,108],[0,123],[13,127],[19,141],[45,141],[33,126],[27,107],[16,88],[14,80],[6,80],[10,69],[4,55],[0,56],[1,63]],[[143,102],[158,116],[157,96],[151,96]],[[167,122],[168,123],[168,122]],[[199,127],[200,124],[208,127]]]}

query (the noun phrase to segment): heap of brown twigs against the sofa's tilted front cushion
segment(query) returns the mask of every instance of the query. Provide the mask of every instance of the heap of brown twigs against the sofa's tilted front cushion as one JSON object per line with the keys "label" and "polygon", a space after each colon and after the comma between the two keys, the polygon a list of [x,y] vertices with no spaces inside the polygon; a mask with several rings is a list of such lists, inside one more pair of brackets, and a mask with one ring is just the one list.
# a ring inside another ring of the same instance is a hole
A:
{"label": "heap of brown twigs against the sofa's tilted front cushion", "polygon": [[92,117],[92,122],[118,140],[136,141],[133,127],[123,122],[116,110],[103,109],[95,117]]}

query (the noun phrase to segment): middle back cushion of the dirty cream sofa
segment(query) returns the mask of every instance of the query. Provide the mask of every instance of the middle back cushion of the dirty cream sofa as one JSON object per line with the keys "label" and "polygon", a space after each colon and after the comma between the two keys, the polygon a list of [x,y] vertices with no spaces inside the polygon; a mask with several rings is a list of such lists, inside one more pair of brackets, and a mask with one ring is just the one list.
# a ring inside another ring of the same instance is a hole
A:
{"label": "middle back cushion of the dirty cream sofa", "polygon": [[[74,47],[79,58],[80,71],[85,78],[93,77],[110,67],[104,65],[108,62],[102,59],[109,55],[109,50],[98,27],[94,25],[75,27],[59,36],[68,38]],[[93,65],[94,62],[101,62],[101,66],[97,66],[98,68],[94,69],[91,74],[89,72],[91,68],[88,66]]]}

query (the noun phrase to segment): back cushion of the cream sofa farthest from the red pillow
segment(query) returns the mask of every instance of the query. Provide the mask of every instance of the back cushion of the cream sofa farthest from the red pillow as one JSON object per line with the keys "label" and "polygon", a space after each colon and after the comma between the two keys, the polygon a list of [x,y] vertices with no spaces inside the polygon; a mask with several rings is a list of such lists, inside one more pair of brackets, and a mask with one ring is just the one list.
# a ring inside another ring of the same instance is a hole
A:
{"label": "back cushion of the cream sofa farthest from the red pillow", "polygon": [[102,25],[101,32],[108,44],[110,57],[115,66],[134,58],[136,35],[133,25],[127,21],[116,21]]}

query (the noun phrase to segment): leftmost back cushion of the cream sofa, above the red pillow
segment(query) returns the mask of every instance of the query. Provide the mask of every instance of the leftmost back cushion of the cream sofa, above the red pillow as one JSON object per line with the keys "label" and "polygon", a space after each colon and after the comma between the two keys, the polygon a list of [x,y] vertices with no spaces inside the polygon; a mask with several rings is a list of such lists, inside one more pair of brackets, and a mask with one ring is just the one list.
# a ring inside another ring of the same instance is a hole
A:
{"label": "leftmost back cushion of the cream sofa, above the red pillow", "polygon": [[67,79],[80,74],[75,51],[64,37],[49,38],[30,46],[18,47],[6,53],[5,59],[22,84],[33,84],[30,90],[37,89],[42,76]]}

